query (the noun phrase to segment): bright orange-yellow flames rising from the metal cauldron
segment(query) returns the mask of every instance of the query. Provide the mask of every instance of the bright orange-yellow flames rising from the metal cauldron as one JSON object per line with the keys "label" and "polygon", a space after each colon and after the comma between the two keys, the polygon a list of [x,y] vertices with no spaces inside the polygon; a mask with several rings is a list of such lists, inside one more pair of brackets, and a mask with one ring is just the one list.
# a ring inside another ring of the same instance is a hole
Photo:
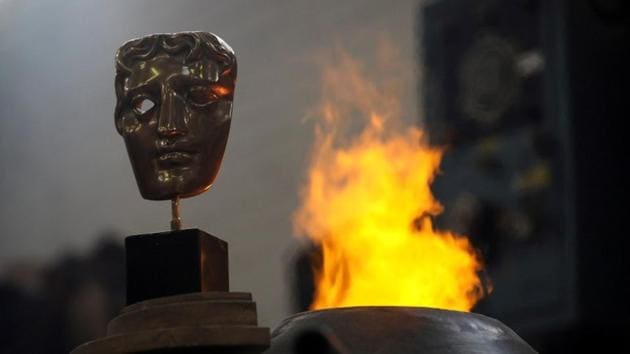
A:
{"label": "bright orange-yellow flames rising from the metal cauldron", "polygon": [[[384,52],[391,64],[391,48]],[[361,65],[337,49],[323,66],[308,178],[294,215],[296,233],[322,250],[311,308],[469,311],[484,293],[480,260],[465,236],[436,230],[431,219],[443,209],[430,189],[443,151],[400,124],[392,73],[370,81]],[[357,117],[360,131],[348,134]]]}

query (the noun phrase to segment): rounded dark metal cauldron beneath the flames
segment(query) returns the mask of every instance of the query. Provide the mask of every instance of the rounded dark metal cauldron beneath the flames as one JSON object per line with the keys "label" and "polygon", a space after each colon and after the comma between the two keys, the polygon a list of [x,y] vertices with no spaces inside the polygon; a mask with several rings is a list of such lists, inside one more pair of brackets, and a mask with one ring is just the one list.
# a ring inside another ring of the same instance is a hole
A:
{"label": "rounded dark metal cauldron beneath the flames", "polygon": [[422,307],[349,307],[285,319],[265,354],[531,354],[503,323]]}

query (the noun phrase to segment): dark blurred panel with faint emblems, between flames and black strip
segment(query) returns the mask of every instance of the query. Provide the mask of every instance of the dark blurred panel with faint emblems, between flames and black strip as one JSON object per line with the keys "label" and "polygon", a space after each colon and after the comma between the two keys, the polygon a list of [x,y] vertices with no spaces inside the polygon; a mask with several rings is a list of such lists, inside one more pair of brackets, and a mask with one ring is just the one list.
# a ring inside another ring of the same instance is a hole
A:
{"label": "dark blurred panel with faint emblems, between flames and black strip", "polygon": [[575,316],[570,146],[557,9],[542,0],[421,8],[423,124],[446,147],[442,226],[471,236],[493,292],[475,311],[528,333]]}

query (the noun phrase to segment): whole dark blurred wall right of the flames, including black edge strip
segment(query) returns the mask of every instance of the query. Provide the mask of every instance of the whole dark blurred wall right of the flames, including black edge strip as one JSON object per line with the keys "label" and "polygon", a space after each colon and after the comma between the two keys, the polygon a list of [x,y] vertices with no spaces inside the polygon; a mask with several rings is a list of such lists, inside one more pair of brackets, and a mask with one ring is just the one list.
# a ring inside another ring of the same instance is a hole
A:
{"label": "whole dark blurred wall right of the flames, including black edge strip", "polygon": [[[465,194],[472,219],[441,222],[488,262],[495,291],[476,311],[543,353],[619,347],[628,329],[629,14],[621,0],[442,0],[420,13],[426,123],[449,149],[436,193],[447,212]],[[511,69],[532,53],[540,71]],[[537,165],[548,182],[513,187]]]}

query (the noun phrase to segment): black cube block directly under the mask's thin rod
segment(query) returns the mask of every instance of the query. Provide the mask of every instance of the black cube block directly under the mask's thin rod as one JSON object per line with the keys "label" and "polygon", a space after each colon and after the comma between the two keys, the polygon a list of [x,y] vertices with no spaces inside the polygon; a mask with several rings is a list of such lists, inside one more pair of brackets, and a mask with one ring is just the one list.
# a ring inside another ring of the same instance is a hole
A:
{"label": "black cube block directly under the mask's thin rod", "polygon": [[129,236],[125,249],[127,305],[229,290],[227,242],[199,229]]}

